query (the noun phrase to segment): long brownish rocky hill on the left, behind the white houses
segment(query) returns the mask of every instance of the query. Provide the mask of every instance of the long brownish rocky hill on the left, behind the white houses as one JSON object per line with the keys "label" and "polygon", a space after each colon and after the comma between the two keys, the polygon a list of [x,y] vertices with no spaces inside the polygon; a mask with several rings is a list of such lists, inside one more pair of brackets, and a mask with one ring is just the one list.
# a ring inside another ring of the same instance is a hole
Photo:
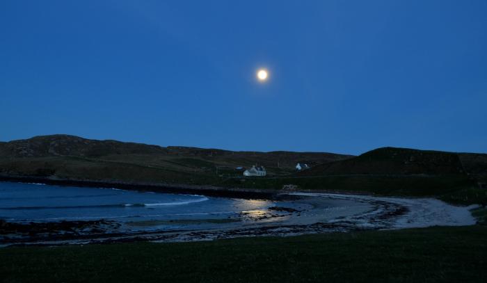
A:
{"label": "long brownish rocky hill on the left, behind the white houses", "polygon": [[321,152],[160,147],[54,135],[1,143],[0,173],[62,179],[214,184],[223,177],[241,176],[237,167],[264,165],[269,175],[278,176],[294,172],[298,162],[317,165],[350,157]]}

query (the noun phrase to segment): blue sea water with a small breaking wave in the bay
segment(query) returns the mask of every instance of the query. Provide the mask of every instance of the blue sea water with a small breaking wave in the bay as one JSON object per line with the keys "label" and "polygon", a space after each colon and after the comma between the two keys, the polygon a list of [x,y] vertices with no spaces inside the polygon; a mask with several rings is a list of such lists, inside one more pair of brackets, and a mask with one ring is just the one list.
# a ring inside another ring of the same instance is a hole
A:
{"label": "blue sea water with a small breaking wave in the bay", "polygon": [[0,219],[14,222],[223,219],[272,205],[202,195],[0,182]]}

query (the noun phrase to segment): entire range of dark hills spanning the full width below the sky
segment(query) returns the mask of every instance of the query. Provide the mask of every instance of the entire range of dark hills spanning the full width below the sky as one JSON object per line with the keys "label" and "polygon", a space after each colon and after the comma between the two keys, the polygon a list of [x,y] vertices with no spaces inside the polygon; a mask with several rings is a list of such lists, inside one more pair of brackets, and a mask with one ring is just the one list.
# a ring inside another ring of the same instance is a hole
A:
{"label": "entire range of dark hills spanning the full width below the sky", "polygon": [[[296,172],[296,163],[311,166]],[[264,165],[267,177],[243,170]],[[487,154],[383,147],[360,156],[320,152],[232,152],[159,147],[77,136],[37,136],[0,143],[0,177],[178,184],[225,188],[349,191],[487,203]]]}

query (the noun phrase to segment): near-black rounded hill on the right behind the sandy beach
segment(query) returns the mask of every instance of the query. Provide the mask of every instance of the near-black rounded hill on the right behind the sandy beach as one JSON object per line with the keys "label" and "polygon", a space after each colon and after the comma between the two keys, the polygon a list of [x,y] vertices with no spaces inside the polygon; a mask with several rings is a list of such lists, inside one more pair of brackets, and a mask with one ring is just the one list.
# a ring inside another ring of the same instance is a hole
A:
{"label": "near-black rounded hill on the right behind the sandy beach", "polygon": [[487,154],[383,147],[360,156],[265,179],[225,180],[225,186],[347,191],[439,197],[460,204],[487,203]]}

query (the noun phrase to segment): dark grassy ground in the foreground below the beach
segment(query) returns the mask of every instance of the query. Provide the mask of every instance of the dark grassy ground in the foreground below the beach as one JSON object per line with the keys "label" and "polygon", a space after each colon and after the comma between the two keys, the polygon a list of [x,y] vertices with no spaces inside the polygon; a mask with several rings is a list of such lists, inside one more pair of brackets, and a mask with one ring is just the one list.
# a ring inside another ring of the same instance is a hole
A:
{"label": "dark grassy ground in the foreground below the beach", "polygon": [[3,282],[486,282],[487,227],[0,249]]}

